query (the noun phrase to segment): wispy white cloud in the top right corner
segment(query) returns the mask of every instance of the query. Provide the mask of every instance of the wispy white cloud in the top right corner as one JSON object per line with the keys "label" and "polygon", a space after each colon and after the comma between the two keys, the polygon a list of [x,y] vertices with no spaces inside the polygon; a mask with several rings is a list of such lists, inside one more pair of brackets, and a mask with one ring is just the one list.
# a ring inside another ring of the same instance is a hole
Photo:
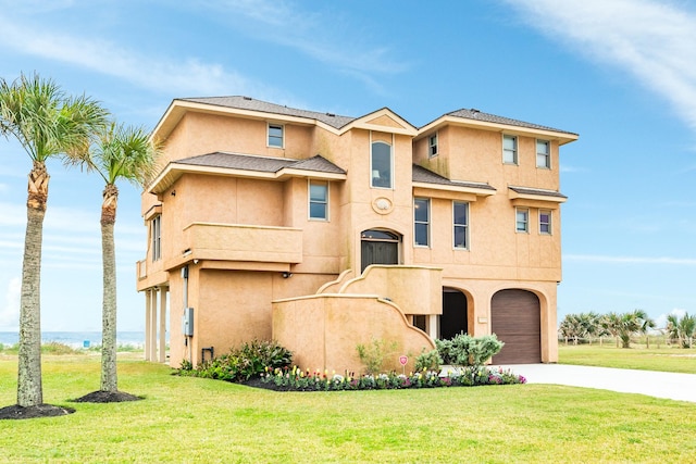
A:
{"label": "wispy white cloud in the top right corner", "polygon": [[524,21],[666,98],[696,130],[696,12],[657,0],[502,0]]}

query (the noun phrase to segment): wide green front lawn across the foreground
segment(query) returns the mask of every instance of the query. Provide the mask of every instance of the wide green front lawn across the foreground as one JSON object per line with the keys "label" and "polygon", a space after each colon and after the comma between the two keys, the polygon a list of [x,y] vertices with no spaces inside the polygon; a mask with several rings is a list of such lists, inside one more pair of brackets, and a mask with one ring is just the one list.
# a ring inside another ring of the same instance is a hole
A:
{"label": "wide green front lawn across the foreground", "polygon": [[[71,403],[99,356],[44,356],[44,394],[75,414],[0,421],[4,463],[692,462],[696,404],[544,385],[273,392],[119,364],[129,403]],[[524,374],[521,372],[520,374]],[[0,406],[16,356],[0,355]]]}

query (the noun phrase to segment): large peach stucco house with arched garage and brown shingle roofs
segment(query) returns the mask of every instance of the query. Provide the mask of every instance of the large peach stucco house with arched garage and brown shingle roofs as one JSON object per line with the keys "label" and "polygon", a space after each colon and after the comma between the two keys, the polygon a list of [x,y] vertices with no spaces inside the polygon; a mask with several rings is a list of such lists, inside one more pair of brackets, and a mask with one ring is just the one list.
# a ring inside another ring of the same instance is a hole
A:
{"label": "large peach stucco house with arched garage and brown shingle roofs", "polygon": [[[276,339],[301,367],[359,371],[495,333],[493,362],[555,362],[559,148],[576,134],[459,110],[417,128],[248,97],[174,100],[142,195],[146,358],[194,365]],[[169,322],[169,327],[167,325]]]}

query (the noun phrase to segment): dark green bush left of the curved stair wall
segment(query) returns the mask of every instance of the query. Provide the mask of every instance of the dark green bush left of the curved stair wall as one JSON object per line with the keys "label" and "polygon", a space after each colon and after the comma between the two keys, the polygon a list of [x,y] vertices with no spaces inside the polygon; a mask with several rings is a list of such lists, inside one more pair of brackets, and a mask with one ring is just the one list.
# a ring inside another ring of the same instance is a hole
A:
{"label": "dark green bush left of the curved stair wall", "polygon": [[206,361],[192,369],[190,363],[182,362],[179,375],[214,378],[227,381],[244,381],[265,372],[266,367],[284,368],[293,362],[293,353],[276,341],[252,340],[229,353]]}

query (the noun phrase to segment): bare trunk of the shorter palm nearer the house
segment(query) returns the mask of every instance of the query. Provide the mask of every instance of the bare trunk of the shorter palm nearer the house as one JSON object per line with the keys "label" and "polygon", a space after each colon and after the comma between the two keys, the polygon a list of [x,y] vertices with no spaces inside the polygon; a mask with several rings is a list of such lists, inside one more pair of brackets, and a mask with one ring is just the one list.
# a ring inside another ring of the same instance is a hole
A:
{"label": "bare trunk of the shorter palm nearer the house", "polygon": [[117,391],[116,377],[116,258],[113,229],[116,222],[116,186],[107,185],[101,204],[103,306],[101,334],[101,391]]}

